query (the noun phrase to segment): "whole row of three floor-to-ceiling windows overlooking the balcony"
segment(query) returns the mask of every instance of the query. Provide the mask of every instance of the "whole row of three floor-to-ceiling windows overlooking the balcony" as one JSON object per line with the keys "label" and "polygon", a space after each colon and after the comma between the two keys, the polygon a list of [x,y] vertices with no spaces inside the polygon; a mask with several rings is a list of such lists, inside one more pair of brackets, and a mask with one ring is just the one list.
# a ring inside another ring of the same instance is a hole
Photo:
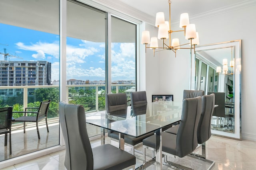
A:
{"label": "whole row of three floor-to-ceiling windows overlooking the balcony", "polygon": [[[41,139],[38,140],[35,125],[29,124],[27,128],[31,129],[24,134],[21,123],[13,124],[17,133],[12,131],[12,154],[8,155],[8,146],[3,144],[0,161],[59,144],[61,57],[66,57],[64,79],[67,88],[64,90],[68,94],[67,101],[82,104],[86,113],[104,111],[108,77],[111,77],[112,92],[129,95],[135,90],[136,24],[67,0],[67,8],[62,9],[67,16],[64,25],[66,56],[60,56],[60,2],[0,1],[0,106],[13,106],[15,111],[23,111],[24,107],[39,106],[42,100],[52,100],[48,111],[50,132],[47,133],[43,121],[39,129]],[[108,24],[111,24],[111,36],[108,37],[111,51],[106,46]],[[110,76],[106,76],[107,58],[111,61]],[[13,117],[17,116],[14,114]],[[88,129],[90,137],[100,133],[96,127]],[[15,140],[16,136],[20,139]],[[0,136],[0,143],[4,142],[3,138]]]}

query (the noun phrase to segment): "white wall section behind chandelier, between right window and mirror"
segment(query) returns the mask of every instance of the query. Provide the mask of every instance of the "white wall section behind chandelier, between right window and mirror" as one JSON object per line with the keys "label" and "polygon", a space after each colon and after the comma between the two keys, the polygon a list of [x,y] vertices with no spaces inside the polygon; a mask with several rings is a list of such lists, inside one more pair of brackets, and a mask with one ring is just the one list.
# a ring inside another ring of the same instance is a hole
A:
{"label": "white wall section behind chandelier, between right window and mirror", "polygon": [[[157,37],[157,27],[147,25],[146,30],[150,31],[150,37]],[[180,34],[183,35],[184,33]],[[162,47],[162,41],[160,40],[158,41],[158,47]],[[189,66],[189,50],[177,51],[175,58],[173,51],[159,51],[153,57],[153,50],[147,49],[146,92],[148,100],[151,100],[152,94],[173,94],[174,101],[182,101],[183,90],[189,89],[190,70],[184,69]]]}

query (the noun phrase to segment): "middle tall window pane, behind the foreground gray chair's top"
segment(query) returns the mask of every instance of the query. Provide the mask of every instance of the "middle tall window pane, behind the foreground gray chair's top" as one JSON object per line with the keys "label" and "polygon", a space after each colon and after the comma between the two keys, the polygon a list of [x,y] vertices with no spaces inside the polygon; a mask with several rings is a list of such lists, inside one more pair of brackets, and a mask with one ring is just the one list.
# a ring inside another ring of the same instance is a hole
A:
{"label": "middle tall window pane, behind the foreground gray chair's top", "polygon": [[[86,112],[105,110],[105,18],[105,12],[67,1],[68,102]],[[87,128],[90,137],[100,134],[100,128]]]}

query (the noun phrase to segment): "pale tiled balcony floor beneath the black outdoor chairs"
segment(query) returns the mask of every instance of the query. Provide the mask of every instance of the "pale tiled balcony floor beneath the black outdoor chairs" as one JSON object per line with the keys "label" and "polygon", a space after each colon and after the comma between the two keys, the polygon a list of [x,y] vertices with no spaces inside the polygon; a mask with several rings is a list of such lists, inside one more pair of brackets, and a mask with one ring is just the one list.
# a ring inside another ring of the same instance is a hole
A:
{"label": "pale tiled balcony floor beneath the black outdoor chairs", "polygon": [[0,135],[0,161],[59,145],[58,119],[48,119],[48,127],[49,133],[45,121],[39,123],[41,139],[38,140],[35,123],[28,123],[26,133],[23,133],[23,123],[12,125],[12,154],[9,154],[9,140],[4,147],[4,135]]}

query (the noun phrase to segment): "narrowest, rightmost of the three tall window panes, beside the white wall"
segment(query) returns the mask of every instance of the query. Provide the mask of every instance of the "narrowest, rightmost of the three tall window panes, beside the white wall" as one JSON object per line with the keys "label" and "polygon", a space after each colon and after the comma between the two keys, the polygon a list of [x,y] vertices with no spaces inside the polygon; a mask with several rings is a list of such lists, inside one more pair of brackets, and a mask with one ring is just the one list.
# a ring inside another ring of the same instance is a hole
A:
{"label": "narrowest, rightmost of the three tall window panes, beside the white wall", "polygon": [[111,17],[111,92],[136,90],[136,25]]}

